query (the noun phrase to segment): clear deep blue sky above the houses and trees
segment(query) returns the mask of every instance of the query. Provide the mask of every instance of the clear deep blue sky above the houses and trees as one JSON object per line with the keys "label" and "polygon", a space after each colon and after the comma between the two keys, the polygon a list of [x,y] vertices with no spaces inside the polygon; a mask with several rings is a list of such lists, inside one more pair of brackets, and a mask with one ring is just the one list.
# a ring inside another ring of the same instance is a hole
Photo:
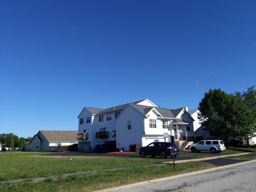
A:
{"label": "clear deep blue sky above the houses and trees", "polygon": [[256,84],[256,1],[0,0],[0,133],[78,130],[87,107],[198,107]]}

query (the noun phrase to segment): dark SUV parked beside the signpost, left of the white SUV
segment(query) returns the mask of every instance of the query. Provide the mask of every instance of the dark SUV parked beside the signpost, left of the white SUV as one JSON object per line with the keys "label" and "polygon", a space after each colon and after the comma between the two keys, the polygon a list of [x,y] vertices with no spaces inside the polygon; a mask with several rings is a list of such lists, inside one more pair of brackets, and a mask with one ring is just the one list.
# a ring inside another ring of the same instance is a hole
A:
{"label": "dark SUV parked beside the signpost, left of the white SUV", "polygon": [[139,149],[139,154],[141,157],[146,157],[150,155],[160,156],[161,158],[167,158],[167,156],[176,157],[180,154],[180,149],[174,144],[174,153],[172,152],[172,144],[169,142],[153,142],[148,144],[146,147],[141,147]]}

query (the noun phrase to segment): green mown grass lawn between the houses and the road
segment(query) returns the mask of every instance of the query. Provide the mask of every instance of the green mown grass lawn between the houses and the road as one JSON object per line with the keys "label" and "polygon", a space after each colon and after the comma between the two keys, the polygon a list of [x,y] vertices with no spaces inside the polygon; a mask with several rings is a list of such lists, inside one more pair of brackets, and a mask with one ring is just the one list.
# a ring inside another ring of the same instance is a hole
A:
{"label": "green mown grass lawn between the houses and the road", "polygon": [[[256,148],[238,148],[232,149],[231,152],[248,150],[255,152]],[[204,162],[186,162],[176,164],[173,171],[173,165],[162,164],[161,158],[41,156],[47,153],[50,152],[1,152],[0,191],[90,192],[215,167]],[[200,153],[182,153],[182,156],[200,157],[201,155]],[[207,154],[203,154],[204,157],[205,155]],[[209,155],[212,156],[212,154]],[[256,159],[256,156],[246,160],[252,159]],[[71,173],[80,174],[62,176]],[[31,182],[33,178],[45,180]],[[20,179],[24,180],[12,182]]]}

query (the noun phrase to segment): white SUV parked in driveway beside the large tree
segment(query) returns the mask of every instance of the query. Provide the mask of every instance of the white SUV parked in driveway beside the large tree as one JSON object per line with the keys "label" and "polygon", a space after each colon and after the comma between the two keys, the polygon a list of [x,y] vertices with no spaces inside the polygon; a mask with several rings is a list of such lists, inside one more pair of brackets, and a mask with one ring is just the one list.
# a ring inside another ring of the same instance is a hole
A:
{"label": "white SUV parked in driveway beside the large tree", "polygon": [[200,141],[197,144],[190,145],[189,149],[192,152],[200,151],[210,151],[211,153],[220,153],[223,150],[226,150],[222,140],[204,140]]}

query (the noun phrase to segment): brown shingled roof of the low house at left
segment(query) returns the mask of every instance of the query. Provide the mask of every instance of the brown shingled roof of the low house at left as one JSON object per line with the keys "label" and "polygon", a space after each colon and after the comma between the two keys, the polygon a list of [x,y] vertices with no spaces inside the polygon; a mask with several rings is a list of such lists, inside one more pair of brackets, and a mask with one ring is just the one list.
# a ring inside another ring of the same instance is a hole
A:
{"label": "brown shingled roof of the low house at left", "polygon": [[44,131],[40,130],[48,142],[75,142],[78,131]]}

